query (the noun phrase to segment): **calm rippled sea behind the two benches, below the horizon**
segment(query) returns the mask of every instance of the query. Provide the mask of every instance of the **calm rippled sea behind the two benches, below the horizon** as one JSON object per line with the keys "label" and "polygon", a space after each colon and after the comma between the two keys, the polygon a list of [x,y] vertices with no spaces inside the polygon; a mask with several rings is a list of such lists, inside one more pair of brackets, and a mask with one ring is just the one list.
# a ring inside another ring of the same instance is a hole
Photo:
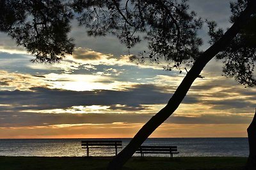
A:
{"label": "calm rippled sea behind the two benches, below the horizon", "polygon": [[[120,140],[126,146],[131,139]],[[249,153],[247,138],[150,138],[144,145],[178,146],[180,154],[175,156],[179,157],[247,157]],[[90,150],[92,156],[112,156],[114,153],[113,149]],[[85,154],[81,139],[0,139],[2,156],[82,157]]]}

